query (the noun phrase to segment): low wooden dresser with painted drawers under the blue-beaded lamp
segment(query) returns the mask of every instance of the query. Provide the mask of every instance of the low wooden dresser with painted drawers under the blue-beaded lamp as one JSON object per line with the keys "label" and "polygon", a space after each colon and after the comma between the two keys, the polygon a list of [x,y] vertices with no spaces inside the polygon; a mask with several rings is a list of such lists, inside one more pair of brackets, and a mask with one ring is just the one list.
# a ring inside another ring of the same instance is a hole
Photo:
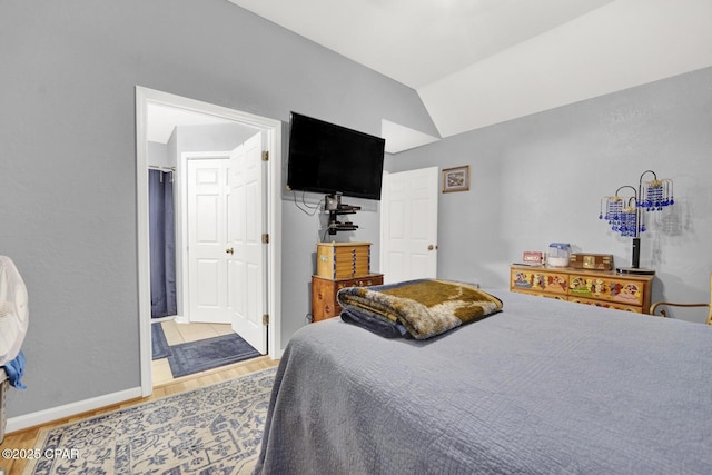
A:
{"label": "low wooden dresser with painted drawers under the blue-beaded lamp", "polygon": [[654,277],[613,270],[515,265],[510,267],[510,290],[647,314]]}

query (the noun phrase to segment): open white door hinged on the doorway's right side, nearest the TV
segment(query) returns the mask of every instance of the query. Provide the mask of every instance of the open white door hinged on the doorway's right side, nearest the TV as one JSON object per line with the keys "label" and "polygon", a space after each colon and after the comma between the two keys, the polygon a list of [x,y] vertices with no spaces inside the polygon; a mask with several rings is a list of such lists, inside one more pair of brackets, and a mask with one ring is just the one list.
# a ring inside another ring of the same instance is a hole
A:
{"label": "open white door hinged on the doorway's right side, nearest the TV", "polygon": [[228,303],[230,323],[259,353],[267,353],[266,246],[263,135],[257,133],[230,154],[228,184]]}

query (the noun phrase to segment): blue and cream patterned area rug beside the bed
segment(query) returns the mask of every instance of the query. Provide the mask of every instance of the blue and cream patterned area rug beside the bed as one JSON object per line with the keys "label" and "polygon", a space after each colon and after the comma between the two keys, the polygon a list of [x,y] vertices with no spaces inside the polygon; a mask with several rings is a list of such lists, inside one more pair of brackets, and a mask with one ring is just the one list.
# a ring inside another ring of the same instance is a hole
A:
{"label": "blue and cream patterned area rug beside the bed", "polygon": [[36,449],[59,455],[28,462],[23,474],[250,473],[275,370],[42,429]]}

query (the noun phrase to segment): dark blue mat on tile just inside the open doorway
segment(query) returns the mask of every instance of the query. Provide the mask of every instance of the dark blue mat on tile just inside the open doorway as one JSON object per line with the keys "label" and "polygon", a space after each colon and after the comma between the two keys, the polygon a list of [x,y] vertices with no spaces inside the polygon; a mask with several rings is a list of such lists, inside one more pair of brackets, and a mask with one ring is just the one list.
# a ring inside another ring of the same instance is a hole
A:
{"label": "dark blue mat on tile just inside the open doorway", "polygon": [[177,378],[257,356],[260,356],[259,352],[237,334],[230,334],[172,345],[168,364]]}

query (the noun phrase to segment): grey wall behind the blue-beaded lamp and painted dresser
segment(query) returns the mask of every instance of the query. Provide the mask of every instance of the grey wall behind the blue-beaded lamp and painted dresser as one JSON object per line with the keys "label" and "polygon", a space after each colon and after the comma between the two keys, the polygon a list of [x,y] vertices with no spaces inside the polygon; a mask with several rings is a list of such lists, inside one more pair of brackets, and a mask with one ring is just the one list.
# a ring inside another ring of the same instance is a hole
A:
{"label": "grey wall behind the blue-beaded lamp and painted dresser", "polygon": [[[631,239],[597,219],[600,199],[643,171],[674,180],[675,206],[643,234],[653,299],[709,301],[712,69],[512,120],[388,157],[389,171],[469,165],[471,190],[439,199],[438,275],[507,288],[523,250],[570,243],[630,266]],[[647,176],[650,178],[650,176]],[[674,313],[703,321],[704,311]]]}

